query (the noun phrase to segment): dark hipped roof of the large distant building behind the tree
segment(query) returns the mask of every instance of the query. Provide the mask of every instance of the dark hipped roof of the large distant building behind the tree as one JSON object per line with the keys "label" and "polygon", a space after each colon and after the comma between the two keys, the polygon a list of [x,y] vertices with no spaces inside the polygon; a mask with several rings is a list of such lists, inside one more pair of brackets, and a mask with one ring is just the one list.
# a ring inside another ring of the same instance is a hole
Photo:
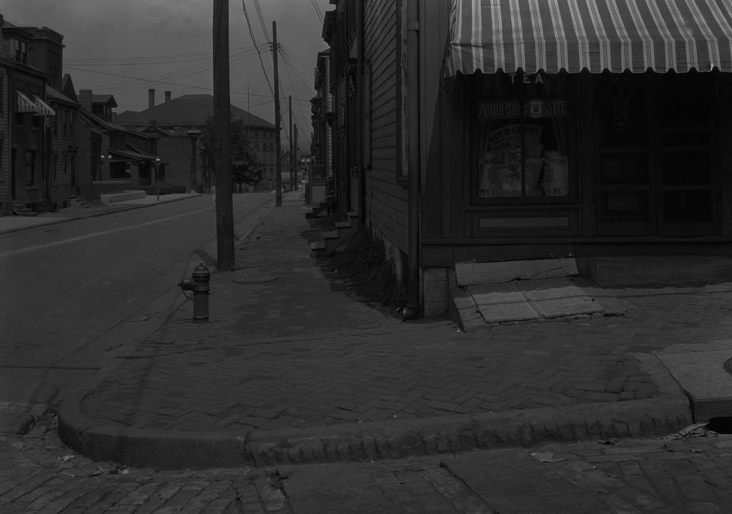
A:
{"label": "dark hipped roof of the large distant building behind the tree", "polygon": [[[125,111],[122,114],[129,113]],[[158,125],[204,125],[206,119],[214,113],[214,97],[211,94],[184,94],[181,97],[155,105],[153,108],[142,111],[146,122],[155,121]],[[244,124],[250,127],[274,129],[275,124],[254,116],[243,109],[231,105],[231,113],[237,119],[243,119]],[[119,121],[118,115],[117,119]],[[132,115],[129,116],[132,119]]]}

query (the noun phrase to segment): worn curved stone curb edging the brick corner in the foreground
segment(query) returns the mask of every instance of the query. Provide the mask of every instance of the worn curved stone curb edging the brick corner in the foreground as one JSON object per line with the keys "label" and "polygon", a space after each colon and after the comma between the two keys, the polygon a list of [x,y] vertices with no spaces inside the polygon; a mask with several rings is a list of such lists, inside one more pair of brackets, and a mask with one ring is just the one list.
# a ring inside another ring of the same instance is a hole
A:
{"label": "worn curved stone curb edging the brick corner in the foreground", "polygon": [[475,416],[433,417],[279,431],[151,431],[91,420],[86,392],[61,404],[59,433],[97,461],[159,469],[373,461],[542,442],[663,436],[692,423],[683,395]]}

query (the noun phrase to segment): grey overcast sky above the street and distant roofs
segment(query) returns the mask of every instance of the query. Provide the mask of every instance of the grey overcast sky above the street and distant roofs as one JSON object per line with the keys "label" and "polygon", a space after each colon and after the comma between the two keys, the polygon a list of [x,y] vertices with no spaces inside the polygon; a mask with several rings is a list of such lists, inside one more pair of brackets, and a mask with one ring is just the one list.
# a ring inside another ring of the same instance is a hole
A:
{"label": "grey overcast sky above the street and distant roofs", "polygon": [[[272,40],[272,21],[277,22],[283,144],[289,137],[291,96],[298,146],[307,149],[315,59],[327,48],[321,17],[334,7],[329,0],[228,3],[231,103],[275,121],[267,40]],[[156,105],[165,91],[173,98],[213,94],[212,0],[2,0],[0,12],[14,25],[47,26],[62,34],[64,73],[70,73],[77,92],[112,94],[117,113],[146,109],[152,88]]]}

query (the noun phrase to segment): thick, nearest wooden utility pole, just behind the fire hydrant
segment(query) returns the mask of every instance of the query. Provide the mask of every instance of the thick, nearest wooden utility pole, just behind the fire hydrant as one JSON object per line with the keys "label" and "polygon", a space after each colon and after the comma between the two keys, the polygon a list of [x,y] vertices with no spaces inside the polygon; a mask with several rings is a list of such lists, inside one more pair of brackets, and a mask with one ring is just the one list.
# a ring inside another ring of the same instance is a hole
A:
{"label": "thick, nearest wooden utility pole, just behind the fire hydrant", "polygon": [[234,207],[231,198],[231,93],[229,92],[228,0],[214,0],[214,171],[216,267],[234,269]]}

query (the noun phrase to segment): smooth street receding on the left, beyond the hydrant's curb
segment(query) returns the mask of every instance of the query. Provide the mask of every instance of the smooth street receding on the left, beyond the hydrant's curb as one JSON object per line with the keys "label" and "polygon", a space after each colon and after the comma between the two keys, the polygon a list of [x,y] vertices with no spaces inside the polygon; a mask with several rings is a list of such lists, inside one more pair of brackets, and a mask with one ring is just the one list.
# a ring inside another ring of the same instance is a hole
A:
{"label": "smooth street receding on the left, beyond the hydrant's curb", "polygon": [[[272,200],[234,195],[235,223],[255,224]],[[212,198],[198,195],[0,235],[0,401],[48,401],[108,364],[111,347],[154,329],[184,301],[176,283],[198,261],[212,264],[214,223]],[[114,340],[121,322],[130,329]]]}

